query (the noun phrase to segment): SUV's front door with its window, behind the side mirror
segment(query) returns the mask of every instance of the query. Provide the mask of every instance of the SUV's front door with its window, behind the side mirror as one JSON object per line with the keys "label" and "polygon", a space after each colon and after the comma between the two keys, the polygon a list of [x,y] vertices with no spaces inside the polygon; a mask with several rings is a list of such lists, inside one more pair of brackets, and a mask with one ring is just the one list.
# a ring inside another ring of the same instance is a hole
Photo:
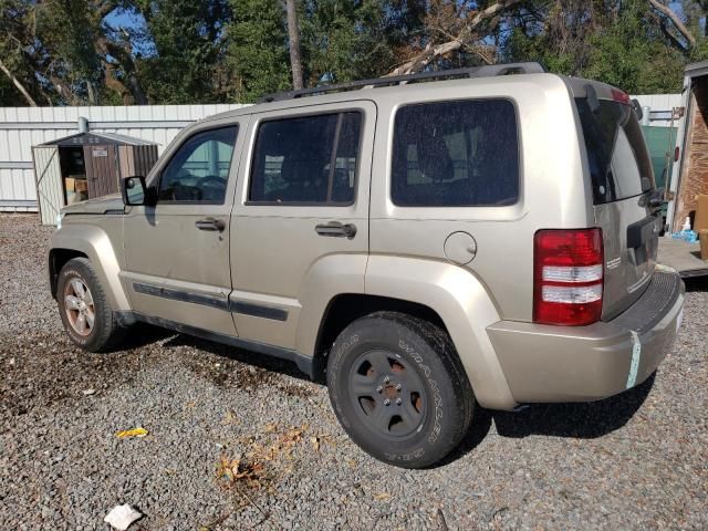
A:
{"label": "SUV's front door with its window, behind the side mirror", "polygon": [[125,216],[121,274],[136,312],[236,335],[229,236],[243,125],[231,118],[192,129],[150,176],[157,205]]}

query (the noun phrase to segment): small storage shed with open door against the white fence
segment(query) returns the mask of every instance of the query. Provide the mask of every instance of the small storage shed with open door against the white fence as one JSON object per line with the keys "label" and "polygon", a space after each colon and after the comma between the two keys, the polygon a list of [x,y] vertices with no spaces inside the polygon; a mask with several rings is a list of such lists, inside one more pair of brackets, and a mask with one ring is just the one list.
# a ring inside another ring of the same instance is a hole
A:
{"label": "small storage shed with open door against the white fence", "polygon": [[147,175],[157,144],[113,133],[84,132],[32,147],[42,225],[60,209],[115,194],[121,178]]}

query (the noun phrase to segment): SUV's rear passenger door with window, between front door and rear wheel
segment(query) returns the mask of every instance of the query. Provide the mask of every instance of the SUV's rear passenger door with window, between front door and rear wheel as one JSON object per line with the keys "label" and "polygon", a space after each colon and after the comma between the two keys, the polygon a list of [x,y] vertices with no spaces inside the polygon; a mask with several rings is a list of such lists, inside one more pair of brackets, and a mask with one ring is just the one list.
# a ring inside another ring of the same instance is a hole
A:
{"label": "SUV's rear passenger door with window, between front door and rear wheel", "polygon": [[375,122],[368,101],[251,117],[231,233],[240,337],[304,351],[299,323],[319,324],[305,314],[364,292]]}

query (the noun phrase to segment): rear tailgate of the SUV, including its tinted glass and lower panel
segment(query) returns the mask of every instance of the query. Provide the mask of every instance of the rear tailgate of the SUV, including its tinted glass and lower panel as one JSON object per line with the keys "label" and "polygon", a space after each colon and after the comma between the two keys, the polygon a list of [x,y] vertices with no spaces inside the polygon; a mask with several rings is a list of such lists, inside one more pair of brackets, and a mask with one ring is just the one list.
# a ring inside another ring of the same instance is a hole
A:
{"label": "rear tailgate of the SUV, including its tinted glass and lower panel", "polygon": [[654,272],[660,217],[649,206],[654,173],[631,105],[577,98],[595,222],[603,230],[603,319],[622,313],[644,293]]}

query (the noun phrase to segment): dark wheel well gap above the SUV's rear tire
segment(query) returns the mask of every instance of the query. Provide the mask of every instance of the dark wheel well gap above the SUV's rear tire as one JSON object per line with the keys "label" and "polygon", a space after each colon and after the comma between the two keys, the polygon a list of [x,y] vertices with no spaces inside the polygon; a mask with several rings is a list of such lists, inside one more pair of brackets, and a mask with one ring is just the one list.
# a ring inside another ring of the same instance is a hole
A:
{"label": "dark wheel well gap above the SUV's rear tire", "polygon": [[352,322],[369,313],[389,311],[400,312],[428,321],[447,332],[445,323],[435,310],[417,302],[389,299],[387,296],[363,295],[346,293],[330,301],[324,317],[320,324],[315,345],[314,379],[321,379],[324,374],[324,357],[336,340],[336,336]]}

